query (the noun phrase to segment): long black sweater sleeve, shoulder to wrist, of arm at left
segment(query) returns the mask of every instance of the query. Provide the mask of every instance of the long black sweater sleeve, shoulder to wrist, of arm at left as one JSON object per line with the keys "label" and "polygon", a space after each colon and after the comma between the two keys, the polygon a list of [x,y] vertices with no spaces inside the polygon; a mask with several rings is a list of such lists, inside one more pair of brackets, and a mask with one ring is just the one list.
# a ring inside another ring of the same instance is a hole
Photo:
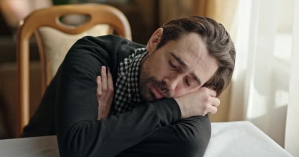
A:
{"label": "long black sweater sleeve, shoulder to wrist, of arm at left", "polygon": [[85,40],[78,41],[65,56],[55,113],[61,157],[116,156],[181,117],[174,99],[162,99],[96,121],[96,76],[109,60],[108,52]]}

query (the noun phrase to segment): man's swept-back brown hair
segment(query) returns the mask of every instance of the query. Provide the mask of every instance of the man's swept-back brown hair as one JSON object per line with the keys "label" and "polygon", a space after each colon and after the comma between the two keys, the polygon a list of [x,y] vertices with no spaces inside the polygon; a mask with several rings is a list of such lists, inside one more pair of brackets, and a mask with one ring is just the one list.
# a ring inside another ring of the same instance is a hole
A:
{"label": "man's swept-back brown hair", "polygon": [[191,16],[172,20],[162,28],[163,35],[156,49],[190,32],[203,38],[209,54],[218,62],[217,71],[203,86],[212,87],[218,97],[231,81],[236,57],[234,43],[224,26],[210,18]]}

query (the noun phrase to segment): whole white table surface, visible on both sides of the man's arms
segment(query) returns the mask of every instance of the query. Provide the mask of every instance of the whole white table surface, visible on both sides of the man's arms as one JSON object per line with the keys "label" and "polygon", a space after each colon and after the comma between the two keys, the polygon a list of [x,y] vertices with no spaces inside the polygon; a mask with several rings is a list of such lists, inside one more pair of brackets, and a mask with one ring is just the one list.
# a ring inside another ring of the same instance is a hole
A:
{"label": "whole white table surface, visible on both sides of the man's arms", "polygon": [[[59,157],[56,136],[0,140],[0,157]],[[252,123],[212,123],[205,157],[292,157]]]}

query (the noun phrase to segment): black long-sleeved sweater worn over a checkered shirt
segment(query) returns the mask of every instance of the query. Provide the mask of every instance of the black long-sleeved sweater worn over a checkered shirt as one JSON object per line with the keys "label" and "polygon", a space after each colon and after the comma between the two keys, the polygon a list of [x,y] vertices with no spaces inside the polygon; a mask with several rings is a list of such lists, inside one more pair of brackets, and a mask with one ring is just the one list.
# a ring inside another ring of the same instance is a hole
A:
{"label": "black long-sleeved sweater worn over a checkered shirt", "polygon": [[177,102],[143,102],[97,121],[96,77],[145,47],[114,35],[87,36],[66,54],[23,137],[57,134],[61,157],[203,156],[210,138],[208,116],[181,119]]}

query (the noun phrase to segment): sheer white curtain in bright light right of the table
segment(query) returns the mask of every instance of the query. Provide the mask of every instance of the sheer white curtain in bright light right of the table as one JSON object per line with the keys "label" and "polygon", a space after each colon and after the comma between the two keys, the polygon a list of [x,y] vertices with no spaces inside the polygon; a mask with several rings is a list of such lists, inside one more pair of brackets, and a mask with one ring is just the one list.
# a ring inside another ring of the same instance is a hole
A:
{"label": "sheer white curtain in bright light right of the table", "polygon": [[[251,121],[282,147],[289,99],[294,100],[294,92],[299,94],[298,67],[291,64],[291,54],[295,62],[298,53],[294,47],[292,53],[293,35],[299,29],[293,29],[299,20],[294,6],[295,0],[238,0],[234,23],[237,58],[229,120]],[[297,79],[290,81],[290,75]],[[289,91],[290,83],[297,91]]]}

